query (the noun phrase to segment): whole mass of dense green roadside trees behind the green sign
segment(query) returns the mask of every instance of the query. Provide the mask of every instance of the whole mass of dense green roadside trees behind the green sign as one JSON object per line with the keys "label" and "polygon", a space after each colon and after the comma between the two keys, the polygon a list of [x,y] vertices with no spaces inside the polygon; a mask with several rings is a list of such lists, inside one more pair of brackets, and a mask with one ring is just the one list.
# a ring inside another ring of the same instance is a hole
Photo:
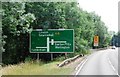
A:
{"label": "whole mass of dense green roadside trees behind the green sign", "polygon": [[32,29],[74,29],[75,53],[79,54],[93,47],[94,35],[100,37],[99,47],[109,45],[107,27],[100,16],[83,11],[75,2],[5,2],[2,7],[2,31],[6,42],[3,63],[18,63],[33,55],[29,53],[29,32]]}

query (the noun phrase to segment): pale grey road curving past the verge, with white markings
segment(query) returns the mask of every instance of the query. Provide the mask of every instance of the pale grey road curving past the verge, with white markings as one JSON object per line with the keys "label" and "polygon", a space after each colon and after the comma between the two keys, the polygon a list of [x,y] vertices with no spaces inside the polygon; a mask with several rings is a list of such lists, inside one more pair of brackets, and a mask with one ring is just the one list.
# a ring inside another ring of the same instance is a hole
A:
{"label": "pale grey road curving past the verge, with white markings", "polygon": [[78,65],[76,75],[118,75],[118,48],[91,54]]}

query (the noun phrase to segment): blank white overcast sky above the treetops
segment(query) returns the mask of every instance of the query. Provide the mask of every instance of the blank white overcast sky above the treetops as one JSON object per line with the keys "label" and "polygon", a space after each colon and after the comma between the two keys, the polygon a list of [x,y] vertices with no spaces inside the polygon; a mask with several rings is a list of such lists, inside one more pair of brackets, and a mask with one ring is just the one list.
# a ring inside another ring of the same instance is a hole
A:
{"label": "blank white overcast sky above the treetops", "polygon": [[109,31],[118,31],[119,0],[78,0],[80,7],[101,16]]}

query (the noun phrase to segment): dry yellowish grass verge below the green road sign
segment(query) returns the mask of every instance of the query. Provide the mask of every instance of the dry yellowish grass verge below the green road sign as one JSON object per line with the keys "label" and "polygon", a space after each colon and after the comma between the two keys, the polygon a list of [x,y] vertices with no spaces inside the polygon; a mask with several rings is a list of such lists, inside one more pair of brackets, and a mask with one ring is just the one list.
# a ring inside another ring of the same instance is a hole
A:
{"label": "dry yellowish grass verge below the green road sign", "polygon": [[2,69],[3,75],[70,75],[74,68],[58,67],[60,62],[41,63],[21,63],[9,65]]}

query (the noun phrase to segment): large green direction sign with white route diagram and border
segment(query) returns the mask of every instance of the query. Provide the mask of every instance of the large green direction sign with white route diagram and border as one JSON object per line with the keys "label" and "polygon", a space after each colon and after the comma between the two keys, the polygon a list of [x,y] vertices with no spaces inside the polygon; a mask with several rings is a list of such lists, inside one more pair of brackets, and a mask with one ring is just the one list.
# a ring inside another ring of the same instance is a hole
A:
{"label": "large green direction sign with white route diagram and border", "polygon": [[73,53],[73,29],[33,30],[30,33],[31,53]]}

